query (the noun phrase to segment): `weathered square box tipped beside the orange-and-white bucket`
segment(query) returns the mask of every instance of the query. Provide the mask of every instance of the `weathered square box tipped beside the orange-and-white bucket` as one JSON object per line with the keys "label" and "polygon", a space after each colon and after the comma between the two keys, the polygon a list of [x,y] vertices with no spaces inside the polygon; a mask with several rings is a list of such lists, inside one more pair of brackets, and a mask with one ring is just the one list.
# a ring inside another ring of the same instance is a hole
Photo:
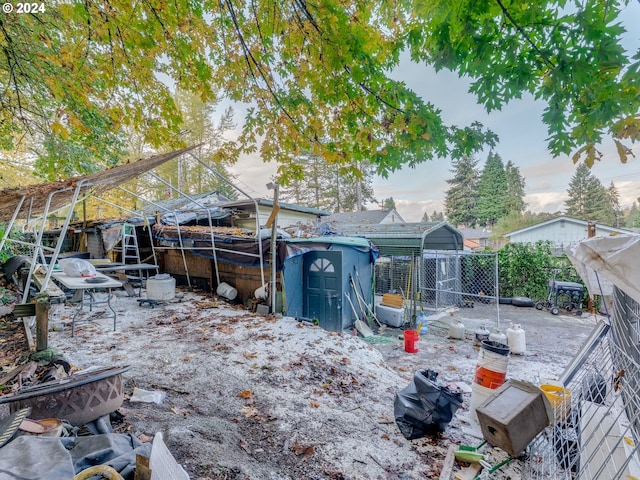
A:
{"label": "weathered square box tipped beside the orange-and-white bucket", "polygon": [[553,409],[535,385],[509,380],[477,409],[482,436],[511,456],[522,453],[553,422]]}

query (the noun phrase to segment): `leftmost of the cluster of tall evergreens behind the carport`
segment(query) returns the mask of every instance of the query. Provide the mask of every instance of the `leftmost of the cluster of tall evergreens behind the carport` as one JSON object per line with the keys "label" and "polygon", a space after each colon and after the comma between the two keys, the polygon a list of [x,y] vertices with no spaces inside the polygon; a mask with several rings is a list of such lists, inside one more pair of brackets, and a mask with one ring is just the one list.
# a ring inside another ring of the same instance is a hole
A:
{"label": "leftmost of the cluster of tall evergreens behind the carport", "polygon": [[[478,161],[466,156],[454,160],[452,165],[453,178],[447,180],[450,186],[445,193],[444,213],[452,225],[472,227],[477,219]],[[431,220],[437,221],[434,215]]]}

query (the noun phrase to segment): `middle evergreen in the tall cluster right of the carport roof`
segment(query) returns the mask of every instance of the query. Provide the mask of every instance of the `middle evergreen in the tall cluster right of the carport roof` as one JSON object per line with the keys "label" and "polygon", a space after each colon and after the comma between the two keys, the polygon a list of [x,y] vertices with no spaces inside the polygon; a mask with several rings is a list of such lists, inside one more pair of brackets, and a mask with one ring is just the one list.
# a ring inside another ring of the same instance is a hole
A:
{"label": "middle evergreen in the tall cluster right of the carport roof", "polygon": [[494,225],[507,213],[507,175],[500,156],[489,153],[478,181],[478,222]]}

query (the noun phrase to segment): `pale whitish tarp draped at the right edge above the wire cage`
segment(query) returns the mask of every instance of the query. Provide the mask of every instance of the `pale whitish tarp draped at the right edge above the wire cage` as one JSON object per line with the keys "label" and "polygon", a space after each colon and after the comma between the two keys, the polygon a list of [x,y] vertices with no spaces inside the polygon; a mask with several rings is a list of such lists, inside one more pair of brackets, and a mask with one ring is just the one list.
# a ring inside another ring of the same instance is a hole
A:
{"label": "pale whitish tarp draped at the right edge above the wire cage", "polygon": [[640,303],[640,235],[589,238],[565,253],[590,295],[611,295],[615,284]]}

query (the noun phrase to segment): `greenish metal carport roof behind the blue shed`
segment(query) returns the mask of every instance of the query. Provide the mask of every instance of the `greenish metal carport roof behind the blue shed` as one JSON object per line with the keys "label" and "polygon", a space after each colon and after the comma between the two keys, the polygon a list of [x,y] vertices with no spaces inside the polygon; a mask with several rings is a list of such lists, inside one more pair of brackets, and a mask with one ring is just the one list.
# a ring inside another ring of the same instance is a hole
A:
{"label": "greenish metal carport roof behind the blue shed", "polygon": [[447,222],[340,225],[348,236],[371,240],[380,255],[420,255],[423,250],[462,250],[462,234]]}

